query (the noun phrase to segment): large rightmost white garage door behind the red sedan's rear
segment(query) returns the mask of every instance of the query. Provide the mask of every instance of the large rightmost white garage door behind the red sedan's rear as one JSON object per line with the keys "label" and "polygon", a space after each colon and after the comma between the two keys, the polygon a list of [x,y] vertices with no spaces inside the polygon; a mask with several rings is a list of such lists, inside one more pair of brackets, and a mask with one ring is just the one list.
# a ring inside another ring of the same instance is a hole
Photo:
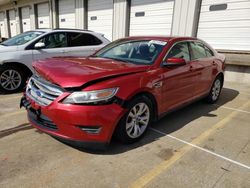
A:
{"label": "large rightmost white garage door behind the red sedan's rear", "polygon": [[216,49],[250,51],[250,1],[203,0],[197,36]]}

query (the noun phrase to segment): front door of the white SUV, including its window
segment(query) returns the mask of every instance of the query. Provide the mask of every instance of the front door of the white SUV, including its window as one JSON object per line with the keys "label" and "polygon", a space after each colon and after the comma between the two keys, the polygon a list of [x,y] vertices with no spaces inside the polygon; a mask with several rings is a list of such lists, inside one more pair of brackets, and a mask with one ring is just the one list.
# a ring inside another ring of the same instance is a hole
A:
{"label": "front door of the white SUV, including its window", "polygon": [[[44,43],[44,47],[35,48],[36,43]],[[65,32],[48,34],[33,44],[33,60],[45,59],[56,56],[66,56],[68,48],[67,35]]]}

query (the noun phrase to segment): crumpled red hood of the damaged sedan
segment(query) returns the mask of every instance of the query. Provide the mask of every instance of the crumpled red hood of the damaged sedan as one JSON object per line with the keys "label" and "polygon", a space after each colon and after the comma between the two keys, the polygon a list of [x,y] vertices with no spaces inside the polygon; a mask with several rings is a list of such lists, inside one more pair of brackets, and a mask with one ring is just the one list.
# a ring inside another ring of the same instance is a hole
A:
{"label": "crumpled red hood of the damaged sedan", "polygon": [[89,82],[143,72],[149,66],[105,58],[59,57],[36,61],[36,72],[63,88],[81,87]]}

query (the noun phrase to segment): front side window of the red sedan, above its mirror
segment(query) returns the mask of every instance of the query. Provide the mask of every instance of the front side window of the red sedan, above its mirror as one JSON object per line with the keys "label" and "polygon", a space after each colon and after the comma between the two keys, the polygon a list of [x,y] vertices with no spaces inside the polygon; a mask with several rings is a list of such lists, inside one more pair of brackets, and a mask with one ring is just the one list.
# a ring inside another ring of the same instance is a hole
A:
{"label": "front side window of the red sedan, above its mirror", "polygon": [[171,58],[171,57],[183,58],[186,61],[190,61],[190,55],[189,55],[187,42],[180,42],[180,43],[175,44],[167,56],[167,58]]}

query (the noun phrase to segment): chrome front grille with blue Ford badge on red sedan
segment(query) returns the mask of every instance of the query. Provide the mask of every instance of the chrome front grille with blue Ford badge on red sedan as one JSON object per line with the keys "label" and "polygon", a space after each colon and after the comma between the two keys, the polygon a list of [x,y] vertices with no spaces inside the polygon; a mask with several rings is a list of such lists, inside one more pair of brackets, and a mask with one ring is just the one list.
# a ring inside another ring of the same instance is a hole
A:
{"label": "chrome front grille with blue Ford badge on red sedan", "polygon": [[42,106],[50,105],[63,90],[40,77],[32,76],[26,88],[26,95]]}

